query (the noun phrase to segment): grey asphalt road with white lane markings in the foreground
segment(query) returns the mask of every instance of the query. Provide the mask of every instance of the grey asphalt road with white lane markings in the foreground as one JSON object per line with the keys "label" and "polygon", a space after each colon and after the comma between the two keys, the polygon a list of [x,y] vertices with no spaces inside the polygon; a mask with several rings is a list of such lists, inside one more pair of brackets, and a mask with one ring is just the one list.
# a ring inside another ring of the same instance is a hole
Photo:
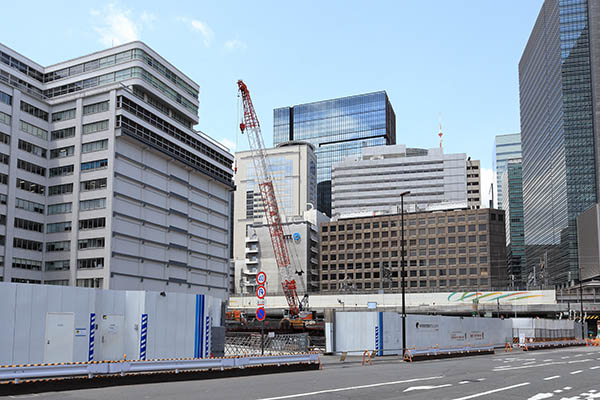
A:
{"label": "grey asphalt road with white lane markings in the foreground", "polygon": [[13,396],[36,399],[600,399],[600,347],[403,363],[324,358],[323,370]]}

